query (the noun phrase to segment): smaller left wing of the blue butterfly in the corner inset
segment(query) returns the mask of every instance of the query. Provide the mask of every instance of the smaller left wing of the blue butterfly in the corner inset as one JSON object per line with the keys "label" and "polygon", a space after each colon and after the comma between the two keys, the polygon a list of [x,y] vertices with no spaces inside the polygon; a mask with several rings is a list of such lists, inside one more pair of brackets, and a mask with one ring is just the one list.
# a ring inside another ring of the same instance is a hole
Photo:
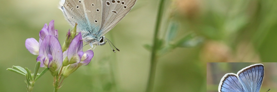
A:
{"label": "smaller left wing of the blue butterfly in the corner inset", "polygon": [[218,86],[219,92],[246,92],[239,82],[238,75],[234,73],[225,74]]}

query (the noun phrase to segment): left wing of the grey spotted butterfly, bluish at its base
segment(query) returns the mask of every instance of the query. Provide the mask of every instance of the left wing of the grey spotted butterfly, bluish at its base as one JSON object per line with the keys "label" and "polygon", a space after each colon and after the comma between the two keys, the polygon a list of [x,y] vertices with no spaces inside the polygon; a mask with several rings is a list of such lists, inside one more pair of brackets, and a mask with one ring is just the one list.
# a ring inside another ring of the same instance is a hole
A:
{"label": "left wing of the grey spotted butterfly, bluish at its base", "polygon": [[102,18],[101,0],[61,0],[60,7],[71,26],[77,23],[78,32],[99,30]]}

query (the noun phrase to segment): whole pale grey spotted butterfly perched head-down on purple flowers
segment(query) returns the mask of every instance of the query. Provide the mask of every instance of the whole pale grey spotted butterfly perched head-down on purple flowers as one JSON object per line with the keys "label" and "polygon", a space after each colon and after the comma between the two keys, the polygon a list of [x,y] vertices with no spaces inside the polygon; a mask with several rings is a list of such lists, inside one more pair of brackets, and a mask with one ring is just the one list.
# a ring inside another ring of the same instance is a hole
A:
{"label": "whole pale grey spotted butterfly perched head-down on purple flowers", "polygon": [[[96,46],[104,45],[106,42],[110,44],[104,35],[129,13],[136,1],[61,0],[59,8],[71,26],[78,24],[77,32],[81,32],[83,41],[93,48],[94,44]],[[110,47],[112,48],[111,45]],[[113,48],[112,50],[114,51]]]}

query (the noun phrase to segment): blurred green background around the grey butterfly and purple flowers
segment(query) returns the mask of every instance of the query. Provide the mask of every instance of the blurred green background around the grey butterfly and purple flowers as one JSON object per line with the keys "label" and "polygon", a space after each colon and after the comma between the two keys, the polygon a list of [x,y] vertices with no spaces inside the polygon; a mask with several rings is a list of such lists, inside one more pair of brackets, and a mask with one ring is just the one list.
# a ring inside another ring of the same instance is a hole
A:
{"label": "blurred green background around the grey butterfly and purple flowers", "polygon": [[[39,31],[51,20],[55,20],[61,43],[72,29],[57,8],[58,3],[0,1],[1,92],[26,92],[25,77],[6,69],[15,65],[33,70],[37,56],[25,48],[27,38],[38,40]],[[160,38],[164,39],[168,24],[174,21],[179,27],[173,41],[189,33],[204,41],[158,58],[154,92],[205,92],[207,62],[276,62],[276,5],[277,0],[166,0]],[[138,0],[105,35],[120,52],[112,52],[109,45],[97,46],[90,64],[66,78],[59,91],[144,92],[151,52],[143,45],[153,44],[158,6],[159,0]],[[53,77],[47,72],[36,82],[34,92],[53,91],[52,84]]]}

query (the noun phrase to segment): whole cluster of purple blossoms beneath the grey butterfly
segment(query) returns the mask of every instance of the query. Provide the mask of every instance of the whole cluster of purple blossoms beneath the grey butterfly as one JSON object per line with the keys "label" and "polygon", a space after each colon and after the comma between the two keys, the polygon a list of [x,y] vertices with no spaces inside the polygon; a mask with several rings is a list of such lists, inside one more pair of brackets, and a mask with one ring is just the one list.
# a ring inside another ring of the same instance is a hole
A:
{"label": "whole cluster of purple blossoms beneath the grey butterfly", "polygon": [[62,75],[66,78],[78,67],[89,64],[94,55],[91,50],[82,51],[82,34],[75,35],[76,28],[72,33],[68,31],[62,48],[58,41],[58,30],[54,29],[52,20],[49,26],[45,24],[39,32],[39,41],[34,38],[26,39],[25,46],[30,53],[38,55],[37,61],[41,62],[40,67],[49,68],[53,76],[56,76],[63,66]]}

